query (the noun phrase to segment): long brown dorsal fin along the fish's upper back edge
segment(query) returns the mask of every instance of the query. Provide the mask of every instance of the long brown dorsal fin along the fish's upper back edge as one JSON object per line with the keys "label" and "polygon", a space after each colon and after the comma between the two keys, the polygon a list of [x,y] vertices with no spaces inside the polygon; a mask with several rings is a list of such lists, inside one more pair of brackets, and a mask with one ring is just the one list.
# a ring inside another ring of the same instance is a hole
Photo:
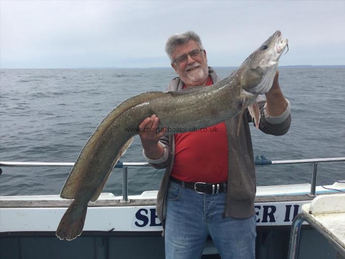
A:
{"label": "long brown dorsal fin along the fish's upper back edge", "polygon": [[127,111],[135,105],[164,97],[170,97],[170,95],[160,91],[144,92],[125,100],[117,107],[115,107],[115,109],[113,109],[99,123],[98,127],[96,128],[96,131],[91,135],[91,137],[85,144],[84,148],[82,149],[82,152],[78,156],[78,159],[74,167],[72,168],[70,175],[68,175],[68,178],[62,187],[60,197],[64,199],[75,199],[77,193],[79,192],[78,181],[83,168],[82,161],[87,161],[89,160],[89,157],[93,156],[95,151],[93,150],[92,145],[94,145],[99,140],[102,134],[106,132],[108,127],[118,116],[120,116],[122,113],[124,113],[125,111]]}

